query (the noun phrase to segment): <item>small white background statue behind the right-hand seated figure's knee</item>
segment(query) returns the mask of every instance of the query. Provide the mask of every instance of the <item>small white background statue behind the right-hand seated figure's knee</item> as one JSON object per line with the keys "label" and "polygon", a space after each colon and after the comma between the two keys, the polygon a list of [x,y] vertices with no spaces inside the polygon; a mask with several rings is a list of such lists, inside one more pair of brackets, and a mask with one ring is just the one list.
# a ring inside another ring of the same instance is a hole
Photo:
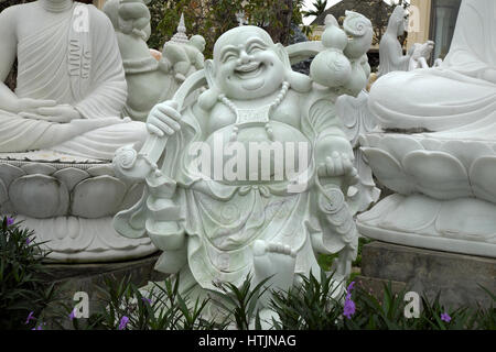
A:
{"label": "small white background statue behind the right-hand seated figure's knee", "polygon": [[434,48],[434,42],[428,41],[424,44],[416,43],[406,55],[398,41],[398,36],[405,34],[406,21],[405,9],[398,6],[389,18],[388,28],[379,43],[379,72],[377,76],[384,76],[397,70],[412,70],[416,68],[429,67],[427,61]]}

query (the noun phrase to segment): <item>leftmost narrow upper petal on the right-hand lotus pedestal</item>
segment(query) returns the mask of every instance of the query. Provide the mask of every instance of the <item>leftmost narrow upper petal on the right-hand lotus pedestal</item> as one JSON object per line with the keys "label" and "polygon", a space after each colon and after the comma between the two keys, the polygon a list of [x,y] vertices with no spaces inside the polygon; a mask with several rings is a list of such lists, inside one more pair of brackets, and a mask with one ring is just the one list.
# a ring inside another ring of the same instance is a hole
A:
{"label": "leftmost narrow upper petal on the right-hand lotus pedestal", "polygon": [[391,154],[374,147],[363,147],[362,151],[367,157],[374,175],[386,187],[403,195],[416,190],[401,169],[401,165]]}

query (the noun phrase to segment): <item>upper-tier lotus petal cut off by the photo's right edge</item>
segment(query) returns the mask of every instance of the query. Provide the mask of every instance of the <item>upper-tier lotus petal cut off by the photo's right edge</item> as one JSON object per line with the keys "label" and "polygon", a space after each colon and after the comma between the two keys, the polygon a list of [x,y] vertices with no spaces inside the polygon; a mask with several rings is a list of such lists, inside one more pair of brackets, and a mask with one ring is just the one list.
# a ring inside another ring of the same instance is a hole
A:
{"label": "upper-tier lotus petal cut off by the photo's right edge", "polygon": [[476,160],[470,175],[475,196],[496,204],[496,156]]}

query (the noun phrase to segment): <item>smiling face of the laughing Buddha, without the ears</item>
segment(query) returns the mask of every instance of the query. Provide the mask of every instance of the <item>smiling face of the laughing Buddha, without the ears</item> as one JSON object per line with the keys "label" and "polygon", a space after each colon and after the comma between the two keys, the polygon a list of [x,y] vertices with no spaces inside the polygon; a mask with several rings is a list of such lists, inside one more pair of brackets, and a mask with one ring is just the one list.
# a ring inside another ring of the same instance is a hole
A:
{"label": "smiling face of the laughing Buddha, without the ears", "polygon": [[261,29],[242,26],[220,37],[214,50],[214,76],[228,97],[257,99],[280,89],[284,65],[277,46]]}

